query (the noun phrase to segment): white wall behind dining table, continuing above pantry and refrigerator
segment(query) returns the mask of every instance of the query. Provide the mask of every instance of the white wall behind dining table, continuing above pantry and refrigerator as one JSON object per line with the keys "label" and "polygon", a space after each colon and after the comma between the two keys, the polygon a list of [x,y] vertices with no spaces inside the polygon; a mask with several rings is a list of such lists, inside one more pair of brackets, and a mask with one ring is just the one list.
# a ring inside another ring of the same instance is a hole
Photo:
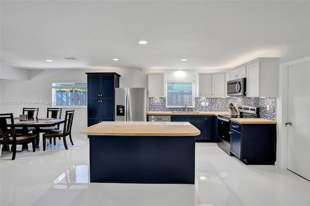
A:
{"label": "white wall behind dining table, continuing above pantry and refrigerator", "polygon": [[[0,104],[1,113],[13,113],[18,116],[23,107],[39,107],[39,117],[46,117],[49,105],[26,105],[24,101],[51,101],[52,81],[87,81],[85,73],[91,72],[116,72],[121,75],[120,87],[143,87],[147,88],[147,74],[140,69],[113,69],[113,70],[46,70],[29,72],[30,80],[7,80],[0,81]],[[5,101],[21,101],[22,104],[4,104]],[[64,108],[65,111],[67,108]],[[69,109],[69,108],[68,108]],[[72,133],[80,133],[87,127],[87,108],[74,108],[74,122]],[[64,116],[65,112],[62,112]],[[62,116],[62,117],[63,117]]]}

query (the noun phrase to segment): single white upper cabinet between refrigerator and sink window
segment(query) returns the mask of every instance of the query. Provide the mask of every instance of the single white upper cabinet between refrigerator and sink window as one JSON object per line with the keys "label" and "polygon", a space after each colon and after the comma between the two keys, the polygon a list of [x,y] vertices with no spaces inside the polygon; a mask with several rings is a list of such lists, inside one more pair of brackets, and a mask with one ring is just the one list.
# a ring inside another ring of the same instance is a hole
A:
{"label": "single white upper cabinet between refrigerator and sink window", "polygon": [[164,74],[149,74],[149,97],[164,97]]}

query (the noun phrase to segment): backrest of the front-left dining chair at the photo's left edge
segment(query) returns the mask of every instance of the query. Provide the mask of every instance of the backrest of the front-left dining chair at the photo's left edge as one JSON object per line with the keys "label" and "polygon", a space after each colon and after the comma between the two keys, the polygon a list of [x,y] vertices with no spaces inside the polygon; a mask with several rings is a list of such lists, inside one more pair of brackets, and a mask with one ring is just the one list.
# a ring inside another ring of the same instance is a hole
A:
{"label": "backrest of the front-left dining chair at the photo's left edge", "polygon": [[11,121],[11,136],[13,137],[13,141],[16,141],[13,113],[0,114],[1,138],[3,138],[4,141],[10,140],[9,138],[10,132],[9,132],[8,124],[7,124],[7,119],[10,119]]}

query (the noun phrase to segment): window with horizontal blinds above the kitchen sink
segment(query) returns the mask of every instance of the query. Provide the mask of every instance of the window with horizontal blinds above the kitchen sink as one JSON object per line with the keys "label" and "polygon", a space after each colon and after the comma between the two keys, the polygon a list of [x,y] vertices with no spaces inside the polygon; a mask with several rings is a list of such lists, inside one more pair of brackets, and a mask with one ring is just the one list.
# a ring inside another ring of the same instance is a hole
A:
{"label": "window with horizontal blinds above the kitchen sink", "polygon": [[166,82],[166,107],[195,107],[195,82]]}

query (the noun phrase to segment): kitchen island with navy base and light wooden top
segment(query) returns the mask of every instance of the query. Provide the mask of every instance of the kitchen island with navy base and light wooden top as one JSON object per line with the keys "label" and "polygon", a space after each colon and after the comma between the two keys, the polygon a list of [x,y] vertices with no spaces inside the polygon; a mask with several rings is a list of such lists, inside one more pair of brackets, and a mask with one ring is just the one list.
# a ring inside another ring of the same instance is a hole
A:
{"label": "kitchen island with navy base and light wooden top", "polygon": [[91,182],[194,184],[195,136],[188,122],[100,122],[86,129]]}

